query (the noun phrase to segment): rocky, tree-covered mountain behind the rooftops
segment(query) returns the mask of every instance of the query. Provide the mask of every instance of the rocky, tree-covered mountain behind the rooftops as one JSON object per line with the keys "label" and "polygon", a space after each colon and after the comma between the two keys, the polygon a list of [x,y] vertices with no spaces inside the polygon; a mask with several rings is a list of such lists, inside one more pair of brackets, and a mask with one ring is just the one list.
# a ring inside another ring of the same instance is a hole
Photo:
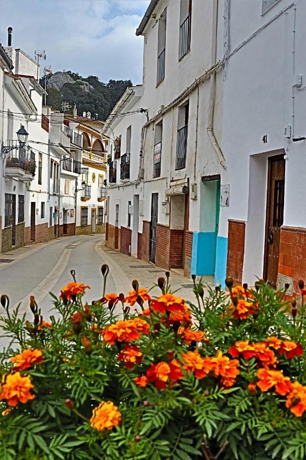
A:
{"label": "rocky, tree-covered mountain behind the rooftops", "polygon": [[[40,79],[44,87],[44,77]],[[91,112],[92,117],[106,120],[125,89],[132,86],[131,80],[110,80],[104,83],[94,75],[83,78],[78,73],[56,72],[47,80],[47,105],[62,111],[62,102],[68,101],[73,108],[77,105],[78,115]],[[72,113],[71,108],[67,113]]]}

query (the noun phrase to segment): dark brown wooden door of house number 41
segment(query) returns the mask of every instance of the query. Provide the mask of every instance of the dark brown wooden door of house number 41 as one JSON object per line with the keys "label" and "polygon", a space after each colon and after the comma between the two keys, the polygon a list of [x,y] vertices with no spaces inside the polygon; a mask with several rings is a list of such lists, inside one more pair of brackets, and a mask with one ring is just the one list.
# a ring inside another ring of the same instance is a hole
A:
{"label": "dark brown wooden door of house number 41", "polygon": [[284,156],[273,156],[268,159],[268,162],[264,279],[275,288],[279,240],[284,220],[285,160]]}

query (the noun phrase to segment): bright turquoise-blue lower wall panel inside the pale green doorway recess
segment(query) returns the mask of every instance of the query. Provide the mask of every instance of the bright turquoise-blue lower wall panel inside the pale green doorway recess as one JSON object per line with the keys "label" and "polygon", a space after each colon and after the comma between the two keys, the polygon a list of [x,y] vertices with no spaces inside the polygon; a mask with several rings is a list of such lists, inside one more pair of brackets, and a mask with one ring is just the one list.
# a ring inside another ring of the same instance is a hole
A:
{"label": "bright turquoise-blue lower wall panel inside the pale green doorway recess", "polygon": [[215,271],[215,233],[193,232],[191,274],[211,275]]}

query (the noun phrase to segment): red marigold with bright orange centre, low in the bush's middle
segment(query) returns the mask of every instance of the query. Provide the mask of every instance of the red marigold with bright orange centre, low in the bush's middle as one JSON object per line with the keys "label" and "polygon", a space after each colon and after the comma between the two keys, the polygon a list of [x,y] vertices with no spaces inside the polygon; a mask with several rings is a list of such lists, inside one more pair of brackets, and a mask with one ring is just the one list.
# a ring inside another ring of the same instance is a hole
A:
{"label": "red marigold with bright orange centre, low in the bush's middle", "polygon": [[[156,388],[166,388],[167,382],[174,384],[183,377],[183,372],[176,361],[169,363],[161,361],[157,364],[151,364],[151,367],[146,372],[148,381],[154,382]],[[172,382],[171,382],[172,380]]]}

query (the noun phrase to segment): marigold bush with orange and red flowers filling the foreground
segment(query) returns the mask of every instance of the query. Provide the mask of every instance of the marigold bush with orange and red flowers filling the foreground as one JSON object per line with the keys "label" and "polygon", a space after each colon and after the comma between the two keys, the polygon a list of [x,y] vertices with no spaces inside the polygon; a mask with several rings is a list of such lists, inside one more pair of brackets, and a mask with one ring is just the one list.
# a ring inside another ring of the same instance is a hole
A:
{"label": "marigold bush with orange and red flowers filling the foreground", "polygon": [[306,456],[306,290],[285,302],[259,281],[204,295],[195,305],[133,291],[84,305],[83,283],[53,295],[47,321],[30,297],[0,319],[0,457],[198,460]]}

